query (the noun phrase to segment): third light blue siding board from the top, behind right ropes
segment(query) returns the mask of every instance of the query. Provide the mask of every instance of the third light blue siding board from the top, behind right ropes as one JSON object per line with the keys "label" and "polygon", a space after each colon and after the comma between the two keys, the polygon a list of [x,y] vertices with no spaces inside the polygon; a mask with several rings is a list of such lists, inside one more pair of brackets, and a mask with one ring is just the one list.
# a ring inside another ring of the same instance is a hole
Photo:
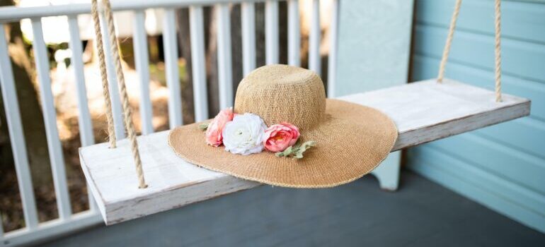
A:
{"label": "third light blue siding board from the top, behind right ropes", "polygon": [[[429,56],[413,55],[411,80],[425,80],[437,77],[440,59]],[[545,69],[545,68],[544,68]],[[493,90],[494,73],[480,68],[450,62],[445,71],[447,78]],[[530,117],[545,123],[545,85],[532,80],[513,76],[502,76],[502,90],[510,95],[517,95],[532,100]]]}

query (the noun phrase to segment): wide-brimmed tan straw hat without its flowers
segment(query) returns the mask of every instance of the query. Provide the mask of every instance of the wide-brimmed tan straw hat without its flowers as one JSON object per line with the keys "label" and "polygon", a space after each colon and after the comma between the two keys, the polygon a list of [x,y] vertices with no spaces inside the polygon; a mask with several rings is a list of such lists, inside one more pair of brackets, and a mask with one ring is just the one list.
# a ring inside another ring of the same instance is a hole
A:
{"label": "wide-brimmed tan straw hat without its flowers", "polygon": [[236,91],[235,114],[260,116],[266,126],[289,122],[302,141],[316,146],[302,159],[277,157],[263,150],[236,155],[205,143],[205,133],[193,123],[174,128],[168,144],[187,162],[225,174],[295,188],[324,188],[354,181],[386,158],[396,142],[394,122],[377,109],[326,99],[316,73],[286,65],[257,68]]}

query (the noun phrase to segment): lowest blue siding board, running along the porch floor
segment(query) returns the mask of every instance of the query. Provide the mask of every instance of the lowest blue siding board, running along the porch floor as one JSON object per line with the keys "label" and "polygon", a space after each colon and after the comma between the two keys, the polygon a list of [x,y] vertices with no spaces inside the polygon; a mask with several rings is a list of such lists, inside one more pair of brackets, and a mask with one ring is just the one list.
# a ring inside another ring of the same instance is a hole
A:
{"label": "lowest blue siding board, running along the porch floor", "polygon": [[[420,149],[420,147],[416,147],[415,149]],[[472,167],[457,167],[460,172],[452,174],[442,169],[449,165],[449,163],[438,163],[437,160],[421,159],[420,157],[422,156],[418,155],[418,153],[410,152],[409,154],[409,168],[418,172],[418,174],[436,183],[440,183],[442,186],[450,188],[461,195],[465,195],[478,203],[482,203],[503,215],[507,215],[507,217],[515,219],[528,227],[545,232],[545,216],[543,214],[527,209],[524,202],[513,201],[510,198],[505,198],[505,195],[496,193],[496,191],[502,191],[505,186],[510,186],[510,183],[502,183],[500,181],[499,185],[496,186],[497,188],[490,190],[485,186],[481,186],[481,183],[493,184],[495,181],[492,176],[488,176],[486,173],[474,171]],[[472,181],[475,179],[481,182],[473,183]]]}

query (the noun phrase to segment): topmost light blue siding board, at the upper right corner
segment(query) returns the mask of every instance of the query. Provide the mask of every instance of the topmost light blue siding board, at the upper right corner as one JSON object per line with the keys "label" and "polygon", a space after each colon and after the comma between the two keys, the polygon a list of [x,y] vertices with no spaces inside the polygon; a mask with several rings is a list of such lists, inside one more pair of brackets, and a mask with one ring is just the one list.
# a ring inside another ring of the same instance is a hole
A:
{"label": "topmost light blue siding board, at the upper right corner", "polygon": [[[416,1],[416,21],[445,28],[455,0]],[[536,32],[545,27],[545,9],[539,4],[520,1],[502,1],[502,35],[514,40],[545,43],[545,32]],[[494,1],[463,1],[457,21],[458,30],[494,34]],[[455,35],[456,36],[456,35]]]}

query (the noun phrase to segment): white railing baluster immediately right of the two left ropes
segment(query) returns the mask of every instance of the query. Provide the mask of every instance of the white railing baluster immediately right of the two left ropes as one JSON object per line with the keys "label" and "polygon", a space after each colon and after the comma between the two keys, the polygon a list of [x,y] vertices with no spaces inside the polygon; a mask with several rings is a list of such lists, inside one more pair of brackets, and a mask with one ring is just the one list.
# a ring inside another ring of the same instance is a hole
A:
{"label": "white railing baluster immediately right of the two left ropes", "polygon": [[149,56],[144,18],[144,11],[134,11],[132,42],[134,43],[134,66],[139,76],[142,134],[147,135],[154,133],[154,126],[151,123],[153,112],[149,99]]}

